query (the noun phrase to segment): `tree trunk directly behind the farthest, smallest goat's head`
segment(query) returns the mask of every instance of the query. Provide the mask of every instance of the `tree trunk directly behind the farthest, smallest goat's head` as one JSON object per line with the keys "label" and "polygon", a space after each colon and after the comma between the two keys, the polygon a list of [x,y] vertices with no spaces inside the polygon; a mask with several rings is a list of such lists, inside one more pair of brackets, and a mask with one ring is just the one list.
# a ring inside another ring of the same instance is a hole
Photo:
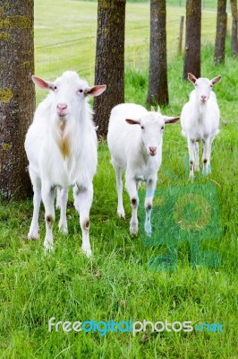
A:
{"label": "tree trunk directly behind the farthest, smallest goat's head", "polygon": [[200,77],[200,29],[201,29],[201,1],[186,1],[186,39],[183,63],[183,78],[188,73]]}

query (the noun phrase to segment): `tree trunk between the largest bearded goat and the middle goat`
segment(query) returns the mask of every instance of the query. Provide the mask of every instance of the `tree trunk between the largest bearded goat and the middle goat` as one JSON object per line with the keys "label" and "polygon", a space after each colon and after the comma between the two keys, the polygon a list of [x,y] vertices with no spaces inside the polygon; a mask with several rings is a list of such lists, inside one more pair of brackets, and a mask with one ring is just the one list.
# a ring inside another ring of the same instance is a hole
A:
{"label": "tree trunk between the largest bearded goat and the middle goat", "polygon": [[95,98],[98,135],[107,134],[111,110],[124,101],[124,24],[126,0],[98,0],[98,33],[95,84],[106,84],[105,94]]}

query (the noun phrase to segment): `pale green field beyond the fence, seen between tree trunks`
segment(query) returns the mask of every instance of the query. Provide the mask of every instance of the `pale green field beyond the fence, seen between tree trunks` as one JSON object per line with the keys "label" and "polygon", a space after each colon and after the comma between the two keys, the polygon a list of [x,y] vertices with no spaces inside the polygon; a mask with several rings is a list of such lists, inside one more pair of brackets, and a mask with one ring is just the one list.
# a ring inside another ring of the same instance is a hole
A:
{"label": "pale green field beyond the fence, seen between tree trunks", "polygon": [[[184,14],[184,6],[167,7],[169,59],[177,56],[180,17]],[[215,43],[216,16],[215,8],[205,8],[202,12],[201,40],[204,45]],[[230,29],[230,13],[228,19]],[[70,67],[93,83],[96,29],[97,2],[52,0],[48,4],[47,0],[37,0],[36,74],[55,79]],[[149,66],[149,3],[126,4],[125,64],[127,68],[140,71]],[[38,99],[42,96],[38,94]]]}

